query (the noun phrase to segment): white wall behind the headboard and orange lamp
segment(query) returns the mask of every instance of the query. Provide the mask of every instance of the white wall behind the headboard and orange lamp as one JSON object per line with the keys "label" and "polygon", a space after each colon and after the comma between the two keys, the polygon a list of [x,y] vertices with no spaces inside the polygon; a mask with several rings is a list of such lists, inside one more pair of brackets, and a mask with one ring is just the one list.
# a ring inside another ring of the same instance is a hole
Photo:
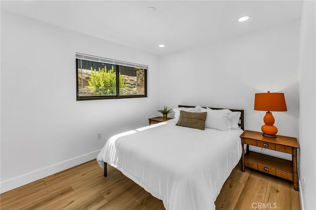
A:
{"label": "white wall behind the headboard and orange lamp", "polygon": [[[288,111],[273,112],[275,125],[279,135],[297,138],[299,30],[300,20],[293,20],[162,56],[160,106],[244,109],[245,129],[261,131],[265,112],[253,110],[255,93],[283,92]],[[273,154],[291,159],[283,153]]]}

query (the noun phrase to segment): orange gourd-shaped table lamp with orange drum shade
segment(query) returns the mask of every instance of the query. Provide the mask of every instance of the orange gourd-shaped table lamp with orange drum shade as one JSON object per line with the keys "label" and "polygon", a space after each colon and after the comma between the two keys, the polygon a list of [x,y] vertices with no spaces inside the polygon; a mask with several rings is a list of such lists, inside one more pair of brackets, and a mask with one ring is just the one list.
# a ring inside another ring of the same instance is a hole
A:
{"label": "orange gourd-shaped table lamp with orange drum shade", "polygon": [[263,136],[276,138],[277,128],[273,124],[275,118],[270,111],[287,111],[284,93],[256,93],[254,110],[267,111],[263,118],[265,124],[261,127]]}

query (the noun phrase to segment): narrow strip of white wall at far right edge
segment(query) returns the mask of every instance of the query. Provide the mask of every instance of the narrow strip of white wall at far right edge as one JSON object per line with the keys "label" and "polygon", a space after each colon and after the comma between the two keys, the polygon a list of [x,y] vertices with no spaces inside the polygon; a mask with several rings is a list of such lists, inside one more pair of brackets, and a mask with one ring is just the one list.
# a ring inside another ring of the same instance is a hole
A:
{"label": "narrow strip of white wall at far right edge", "polygon": [[[316,209],[316,2],[302,9],[299,71],[300,189],[305,210]],[[305,183],[303,181],[305,179]]]}

